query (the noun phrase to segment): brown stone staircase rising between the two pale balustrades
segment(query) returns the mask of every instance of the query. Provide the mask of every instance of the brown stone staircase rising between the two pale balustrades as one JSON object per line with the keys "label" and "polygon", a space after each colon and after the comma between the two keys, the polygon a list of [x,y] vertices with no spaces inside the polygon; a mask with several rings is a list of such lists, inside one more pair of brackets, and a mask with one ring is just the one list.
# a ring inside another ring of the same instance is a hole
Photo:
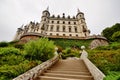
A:
{"label": "brown stone staircase rising between the two pale balustrades", "polygon": [[82,59],[59,60],[35,80],[94,80]]}

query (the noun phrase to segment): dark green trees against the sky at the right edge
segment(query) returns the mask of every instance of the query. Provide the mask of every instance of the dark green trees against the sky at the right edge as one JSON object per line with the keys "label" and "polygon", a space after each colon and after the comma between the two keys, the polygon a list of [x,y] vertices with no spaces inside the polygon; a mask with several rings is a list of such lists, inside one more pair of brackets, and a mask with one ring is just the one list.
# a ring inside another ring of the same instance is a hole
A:
{"label": "dark green trees against the sky at the right edge", "polygon": [[[102,31],[102,35],[104,37],[106,37],[109,41],[117,41],[116,39],[119,40],[119,38],[118,38],[119,37],[119,33],[116,33],[117,31],[120,31],[120,23],[117,23],[117,24],[113,25],[112,27],[105,28]],[[113,38],[112,38],[112,36],[113,36]],[[114,38],[115,38],[115,40],[114,40]]]}

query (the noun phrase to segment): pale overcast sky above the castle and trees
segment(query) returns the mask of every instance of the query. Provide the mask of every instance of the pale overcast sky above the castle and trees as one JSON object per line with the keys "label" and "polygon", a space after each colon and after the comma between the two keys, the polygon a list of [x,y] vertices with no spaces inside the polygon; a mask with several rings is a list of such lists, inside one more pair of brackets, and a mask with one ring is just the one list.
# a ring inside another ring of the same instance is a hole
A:
{"label": "pale overcast sky above the castle and trees", "polygon": [[12,41],[21,25],[40,22],[48,6],[51,15],[56,16],[76,16],[79,8],[91,35],[120,23],[120,0],[0,0],[0,41]]}

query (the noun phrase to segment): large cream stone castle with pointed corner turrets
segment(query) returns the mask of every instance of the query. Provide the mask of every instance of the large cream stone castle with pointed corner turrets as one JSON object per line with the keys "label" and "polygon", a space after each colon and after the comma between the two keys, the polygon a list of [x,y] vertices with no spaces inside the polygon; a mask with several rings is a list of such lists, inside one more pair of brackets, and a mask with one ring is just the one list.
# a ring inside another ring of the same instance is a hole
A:
{"label": "large cream stone castle with pointed corner turrets", "polygon": [[84,13],[78,9],[76,16],[55,16],[47,8],[42,12],[40,23],[30,22],[18,28],[14,40],[28,41],[38,37],[83,39],[88,37],[88,30]]}

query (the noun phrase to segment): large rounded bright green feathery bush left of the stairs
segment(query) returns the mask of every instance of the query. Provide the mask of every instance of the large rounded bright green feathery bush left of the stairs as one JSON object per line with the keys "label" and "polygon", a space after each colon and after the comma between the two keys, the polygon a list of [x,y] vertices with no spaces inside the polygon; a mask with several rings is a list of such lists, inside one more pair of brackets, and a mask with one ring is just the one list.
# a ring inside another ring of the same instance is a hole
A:
{"label": "large rounded bright green feathery bush left of the stairs", "polygon": [[49,41],[47,38],[41,38],[36,41],[30,41],[25,44],[26,58],[31,60],[41,60],[46,61],[53,57],[54,53],[54,43]]}

